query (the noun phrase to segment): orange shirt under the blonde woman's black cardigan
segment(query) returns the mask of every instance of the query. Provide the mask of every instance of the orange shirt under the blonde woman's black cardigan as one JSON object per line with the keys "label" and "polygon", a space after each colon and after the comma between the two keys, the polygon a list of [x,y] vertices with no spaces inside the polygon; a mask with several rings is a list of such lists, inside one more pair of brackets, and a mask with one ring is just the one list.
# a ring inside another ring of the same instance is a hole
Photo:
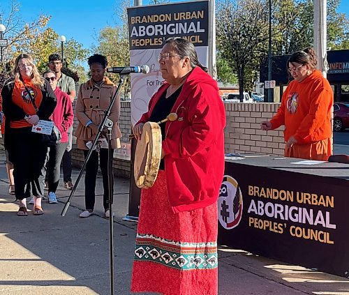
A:
{"label": "orange shirt under the blonde woman's black cardigan", "polygon": [[[43,100],[43,93],[40,91],[38,86],[31,84],[29,81],[24,81],[27,89],[30,91],[31,96],[35,100],[35,105],[38,108],[41,101]],[[16,81],[15,86],[13,87],[12,100],[15,105],[22,108],[24,113],[29,115],[36,114],[33,103],[31,103],[31,98],[27,89],[24,87],[24,84],[21,81]],[[11,121],[11,128],[22,128],[22,127],[31,127],[31,124],[27,123],[25,119],[19,121]]]}

